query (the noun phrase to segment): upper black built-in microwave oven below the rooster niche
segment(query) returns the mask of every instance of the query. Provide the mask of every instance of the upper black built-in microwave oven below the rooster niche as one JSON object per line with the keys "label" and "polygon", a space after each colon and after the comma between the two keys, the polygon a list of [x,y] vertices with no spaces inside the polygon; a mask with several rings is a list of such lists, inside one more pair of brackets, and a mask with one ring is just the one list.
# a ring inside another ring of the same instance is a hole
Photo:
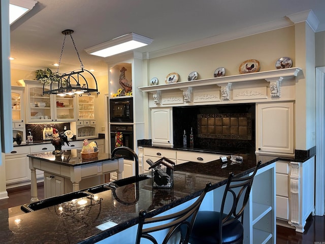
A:
{"label": "upper black built-in microwave oven below the rooster niche", "polygon": [[110,103],[110,122],[133,123],[133,98],[113,98]]}

